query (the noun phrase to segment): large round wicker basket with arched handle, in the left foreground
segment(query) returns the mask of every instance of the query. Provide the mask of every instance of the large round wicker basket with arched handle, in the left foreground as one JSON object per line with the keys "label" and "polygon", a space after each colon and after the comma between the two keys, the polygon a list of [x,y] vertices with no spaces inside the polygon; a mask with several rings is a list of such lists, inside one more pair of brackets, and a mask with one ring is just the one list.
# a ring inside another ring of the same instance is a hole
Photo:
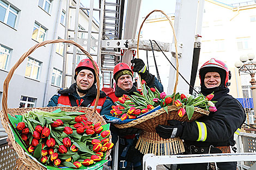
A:
{"label": "large round wicker basket with arched handle, in the left foreground", "polygon": [[[13,144],[14,150],[17,152],[17,155],[19,156],[19,159],[17,160],[17,169],[33,169],[33,170],[45,170],[44,167],[42,167],[39,163],[35,162],[33,159],[31,159],[29,156],[27,156],[25,154],[25,151],[23,150],[23,148],[21,146],[19,146],[19,144],[16,143],[14,136],[12,134],[11,128],[10,128],[10,122],[8,119],[8,114],[10,114],[11,116],[14,115],[22,115],[25,114],[27,111],[30,111],[32,109],[39,109],[39,110],[43,110],[43,111],[54,111],[56,109],[61,109],[63,111],[74,111],[74,112],[78,112],[78,111],[84,111],[87,114],[87,118],[89,121],[92,121],[94,124],[97,122],[101,122],[102,125],[106,124],[105,119],[103,119],[101,117],[101,115],[99,113],[97,113],[96,111],[96,106],[97,103],[99,102],[99,95],[100,95],[100,81],[99,81],[99,75],[96,74],[96,81],[97,81],[97,96],[96,96],[96,102],[95,102],[95,106],[93,109],[91,108],[84,108],[84,107],[48,107],[48,108],[15,108],[15,109],[8,109],[7,106],[7,97],[8,97],[8,86],[9,86],[9,82],[11,80],[11,77],[13,77],[14,71],[16,70],[16,68],[22,63],[23,60],[25,60],[25,58],[27,58],[28,55],[30,55],[32,52],[35,51],[36,48],[39,48],[41,46],[50,44],[50,43],[58,43],[58,42],[64,42],[64,43],[70,43],[73,44],[75,46],[77,46],[78,48],[81,49],[81,51],[86,54],[88,56],[88,58],[92,61],[93,66],[94,66],[94,70],[95,72],[97,72],[97,67],[95,65],[95,62],[93,61],[92,56],[90,56],[90,54],[88,52],[86,52],[82,46],[78,45],[78,43],[74,42],[74,41],[70,41],[70,40],[63,40],[63,39],[58,39],[58,40],[48,40],[48,41],[44,41],[41,43],[36,44],[35,46],[33,46],[32,48],[29,49],[28,52],[24,53],[21,58],[16,62],[16,64],[11,68],[11,70],[9,71],[7,78],[5,78],[4,81],[4,86],[3,86],[3,101],[2,101],[2,107],[3,110],[1,111],[1,121],[3,124],[3,127],[5,129],[5,131],[7,132],[9,139],[11,141],[11,143]],[[110,136],[111,139],[111,136]],[[108,150],[108,152],[106,153],[106,158],[109,156],[110,154],[110,150]]]}

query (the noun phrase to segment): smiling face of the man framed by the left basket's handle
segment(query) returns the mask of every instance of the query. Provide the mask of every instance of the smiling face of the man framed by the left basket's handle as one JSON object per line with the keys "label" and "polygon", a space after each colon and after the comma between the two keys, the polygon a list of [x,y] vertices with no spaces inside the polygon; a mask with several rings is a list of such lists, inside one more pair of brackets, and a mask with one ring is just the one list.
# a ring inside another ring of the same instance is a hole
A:
{"label": "smiling face of the man framed by the left basket's handle", "polygon": [[93,72],[90,70],[81,70],[76,77],[77,88],[81,90],[88,90],[92,87],[94,82]]}

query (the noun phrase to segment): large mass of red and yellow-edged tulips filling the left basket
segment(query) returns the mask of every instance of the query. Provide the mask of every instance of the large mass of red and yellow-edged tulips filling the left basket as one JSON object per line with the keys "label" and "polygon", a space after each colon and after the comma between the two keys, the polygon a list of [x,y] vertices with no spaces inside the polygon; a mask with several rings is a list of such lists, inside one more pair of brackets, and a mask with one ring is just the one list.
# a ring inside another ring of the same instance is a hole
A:
{"label": "large mass of red and yellow-edged tulips filling the left basket", "polygon": [[[105,163],[109,142],[109,124],[93,124],[84,112],[41,110],[9,119],[15,139],[26,152],[47,169],[83,169]],[[17,140],[20,138],[20,140]]]}

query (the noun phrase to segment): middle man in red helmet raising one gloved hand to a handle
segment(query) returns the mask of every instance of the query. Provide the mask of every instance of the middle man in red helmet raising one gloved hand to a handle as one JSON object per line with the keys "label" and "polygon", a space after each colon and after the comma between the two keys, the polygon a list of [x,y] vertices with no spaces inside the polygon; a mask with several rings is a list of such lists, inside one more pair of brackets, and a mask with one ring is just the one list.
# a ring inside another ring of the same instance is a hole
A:
{"label": "middle man in red helmet raising one gloved hand to a handle", "polygon": [[[114,102],[123,95],[135,95],[133,92],[138,92],[136,86],[133,85],[133,72],[138,72],[141,78],[147,82],[149,87],[155,87],[160,92],[163,91],[162,84],[150,74],[147,70],[143,60],[133,59],[131,63],[135,64],[133,70],[124,62],[117,64],[114,67],[113,78],[116,83],[115,91],[108,94]],[[140,93],[140,92],[138,92]],[[142,158],[143,154],[135,148],[139,129],[137,128],[125,128],[117,129],[111,125],[112,142],[117,141],[117,135],[119,136],[119,153],[118,153],[118,169],[126,170],[142,170]]]}

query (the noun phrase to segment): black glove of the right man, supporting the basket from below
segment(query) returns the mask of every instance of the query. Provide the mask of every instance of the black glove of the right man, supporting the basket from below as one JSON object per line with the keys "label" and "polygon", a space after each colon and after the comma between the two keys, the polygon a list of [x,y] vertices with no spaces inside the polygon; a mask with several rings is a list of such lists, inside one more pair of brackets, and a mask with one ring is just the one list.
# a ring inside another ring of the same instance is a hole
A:
{"label": "black glove of the right man, supporting the basket from below", "polygon": [[162,138],[174,138],[182,135],[183,126],[180,121],[167,121],[170,125],[158,125],[156,133]]}

